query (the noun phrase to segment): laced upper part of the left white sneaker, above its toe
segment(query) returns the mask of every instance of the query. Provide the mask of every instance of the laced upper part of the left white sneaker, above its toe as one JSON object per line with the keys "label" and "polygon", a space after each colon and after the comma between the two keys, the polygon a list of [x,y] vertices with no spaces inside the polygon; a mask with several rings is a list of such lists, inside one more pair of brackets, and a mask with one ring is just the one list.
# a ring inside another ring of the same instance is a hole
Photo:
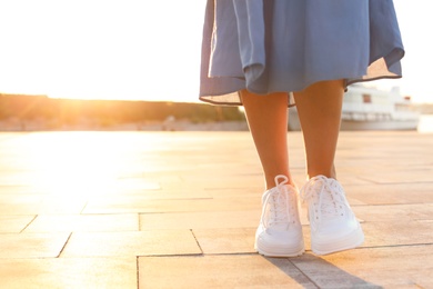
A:
{"label": "laced upper part of the left white sneaker, above its toe", "polygon": [[[283,181],[280,181],[283,179]],[[262,218],[263,227],[289,226],[295,223],[295,208],[293,201],[290,200],[290,192],[286,183],[289,178],[285,176],[276,176],[274,189],[268,190],[263,195]],[[266,216],[268,213],[268,216]]]}

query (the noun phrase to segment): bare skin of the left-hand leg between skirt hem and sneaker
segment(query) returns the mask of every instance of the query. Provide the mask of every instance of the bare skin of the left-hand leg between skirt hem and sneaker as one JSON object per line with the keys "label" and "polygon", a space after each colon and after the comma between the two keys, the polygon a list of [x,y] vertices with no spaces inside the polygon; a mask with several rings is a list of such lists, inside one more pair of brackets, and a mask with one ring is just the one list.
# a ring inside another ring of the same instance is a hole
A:
{"label": "bare skin of the left-hand leg between skirt hem and sneaker", "polygon": [[288,153],[288,93],[258,96],[241,91],[245,114],[260,161],[266,190],[275,187],[274,178],[284,175],[293,185],[289,172]]}

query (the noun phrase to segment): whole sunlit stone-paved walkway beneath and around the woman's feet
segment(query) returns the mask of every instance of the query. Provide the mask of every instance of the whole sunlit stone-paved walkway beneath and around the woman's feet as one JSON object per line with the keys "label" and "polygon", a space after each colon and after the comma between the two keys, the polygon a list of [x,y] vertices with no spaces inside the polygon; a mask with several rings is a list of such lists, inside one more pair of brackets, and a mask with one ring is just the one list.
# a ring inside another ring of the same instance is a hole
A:
{"label": "whole sunlit stone-paved walkway beneath and around the woman's feet", "polygon": [[[0,288],[433,288],[432,148],[433,134],[342,132],[365,243],[263,258],[248,132],[0,133]],[[305,208],[302,222],[310,249]]]}

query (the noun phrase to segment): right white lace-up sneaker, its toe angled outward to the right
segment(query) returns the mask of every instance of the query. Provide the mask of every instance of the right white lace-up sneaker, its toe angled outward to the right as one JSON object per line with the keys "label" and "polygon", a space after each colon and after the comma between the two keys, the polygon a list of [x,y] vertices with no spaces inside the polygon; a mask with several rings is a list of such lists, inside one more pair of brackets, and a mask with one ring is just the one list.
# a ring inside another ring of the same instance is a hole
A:
{"label": "right white lace-up sneaker, its toe angled outward to the right", "polygon": [[353,249],[364,241],[343,188],[335,179],[318,176],[301,189],[308,202],[311,227],[311,249],[316,255]]}

